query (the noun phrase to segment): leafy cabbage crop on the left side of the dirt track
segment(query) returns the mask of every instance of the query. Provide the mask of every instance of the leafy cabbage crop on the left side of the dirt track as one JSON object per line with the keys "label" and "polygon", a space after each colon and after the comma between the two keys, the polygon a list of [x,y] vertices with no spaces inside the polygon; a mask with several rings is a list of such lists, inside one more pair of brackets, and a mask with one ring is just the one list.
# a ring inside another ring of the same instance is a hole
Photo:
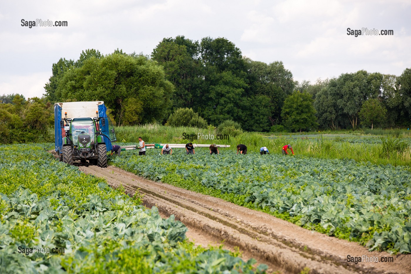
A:
{"label": "leafy cabbage crop on the left side of the dirt track", "polygon": [[265,273],[255,260],[194,247],[174,216],[162,219],[140,195],[55,160],[51,148],[0,146],[1,273]]}

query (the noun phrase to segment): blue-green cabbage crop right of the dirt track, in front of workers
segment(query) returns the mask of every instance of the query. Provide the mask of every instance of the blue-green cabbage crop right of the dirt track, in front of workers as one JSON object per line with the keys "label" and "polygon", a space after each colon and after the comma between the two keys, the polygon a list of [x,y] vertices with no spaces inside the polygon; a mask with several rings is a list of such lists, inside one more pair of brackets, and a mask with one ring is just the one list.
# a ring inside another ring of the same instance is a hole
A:
{"label": "blue-green cabbage crop right of the dirt track, in front of workers", "polygon": [[[327,143],[322,141],[320,147]],[[219,157],[207,155],[199,149],[190,158],[178,149],[172,157],[148,151],[147,157],[129,153],[112,164],[360,241],[370,250],[411,253],[411,173],[402,167],[275,153],[263,157],[250,152],[239,158],[224,149]]]}

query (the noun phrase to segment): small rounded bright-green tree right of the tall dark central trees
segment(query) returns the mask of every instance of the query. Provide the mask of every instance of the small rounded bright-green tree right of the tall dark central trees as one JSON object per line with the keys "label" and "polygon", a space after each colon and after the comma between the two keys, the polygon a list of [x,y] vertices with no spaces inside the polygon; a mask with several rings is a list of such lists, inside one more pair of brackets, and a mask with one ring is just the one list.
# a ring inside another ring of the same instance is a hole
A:
{"label": "small rounded bright-green tree right of the tall dark central trees", "polygon": [[311,94],[294,91],[284,101],[281,116],[287,128],[301,132],[318,125],[315,112]]}

